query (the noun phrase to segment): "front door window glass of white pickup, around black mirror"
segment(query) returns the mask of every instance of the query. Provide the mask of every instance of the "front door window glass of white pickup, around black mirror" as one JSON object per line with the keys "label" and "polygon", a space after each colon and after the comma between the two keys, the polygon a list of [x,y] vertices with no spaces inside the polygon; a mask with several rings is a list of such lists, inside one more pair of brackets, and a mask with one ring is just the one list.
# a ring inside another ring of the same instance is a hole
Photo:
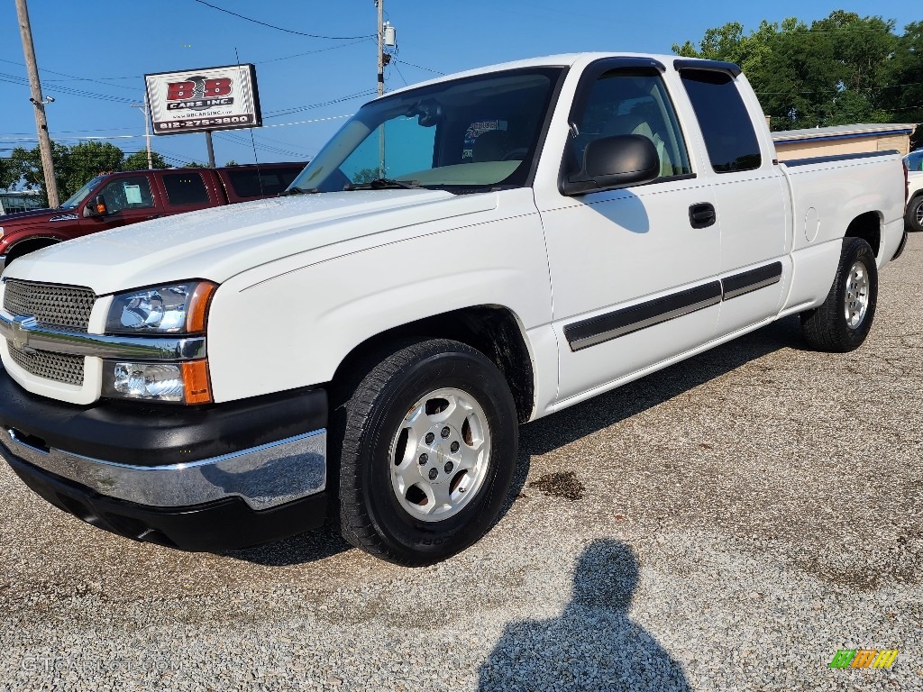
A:
{"label": "front door window glass of white pickup, around black mirror", "polygon": [[570,165],[579,167],[593,139],[641,135],[660,159],[658,180],[691,173],[686,142],[663,81],[651,70],[612,70],[596,79],[581,113],[573,119]]}

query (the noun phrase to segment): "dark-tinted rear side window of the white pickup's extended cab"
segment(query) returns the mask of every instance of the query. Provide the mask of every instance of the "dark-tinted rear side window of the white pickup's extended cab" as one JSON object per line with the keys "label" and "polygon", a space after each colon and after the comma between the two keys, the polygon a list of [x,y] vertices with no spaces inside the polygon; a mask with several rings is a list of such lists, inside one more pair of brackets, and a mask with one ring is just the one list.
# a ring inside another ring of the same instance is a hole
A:
{"label": "dark-tinted rear side window of the white pickup's extended cab", "polygon": [[760,142],[737,85],[715,70],[679,73],[699,120],[702,137],[716,173],[752,171],[762,163]]}

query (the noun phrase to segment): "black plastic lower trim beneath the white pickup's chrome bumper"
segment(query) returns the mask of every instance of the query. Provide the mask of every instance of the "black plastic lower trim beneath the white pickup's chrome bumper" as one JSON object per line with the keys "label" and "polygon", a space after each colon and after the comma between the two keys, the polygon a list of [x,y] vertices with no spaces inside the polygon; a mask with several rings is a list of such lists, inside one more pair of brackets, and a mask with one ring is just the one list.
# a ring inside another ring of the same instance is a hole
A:
{"label": "black plastic lower trim beneath the white pickup's chrome bumper", "polygon": [[54,507],[100,529],[180,550],[217,552],[269,543],[316,529],[327,516],[327,493],[261,511],[239,497],[195,507],[145,507],[99,495],[18,457],[6,461]]}

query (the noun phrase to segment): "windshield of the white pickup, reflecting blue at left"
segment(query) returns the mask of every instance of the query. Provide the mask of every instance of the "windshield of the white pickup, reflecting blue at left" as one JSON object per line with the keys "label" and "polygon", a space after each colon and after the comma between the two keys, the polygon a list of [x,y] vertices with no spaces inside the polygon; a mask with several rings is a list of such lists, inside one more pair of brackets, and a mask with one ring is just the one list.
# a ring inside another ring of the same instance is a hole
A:
{"label": "windshield of the white pickup, reflecting blue at left", "polygon": [[562,72],[494,72],[366,103],[289,191],[391,184],[467,192],[524,185]]}

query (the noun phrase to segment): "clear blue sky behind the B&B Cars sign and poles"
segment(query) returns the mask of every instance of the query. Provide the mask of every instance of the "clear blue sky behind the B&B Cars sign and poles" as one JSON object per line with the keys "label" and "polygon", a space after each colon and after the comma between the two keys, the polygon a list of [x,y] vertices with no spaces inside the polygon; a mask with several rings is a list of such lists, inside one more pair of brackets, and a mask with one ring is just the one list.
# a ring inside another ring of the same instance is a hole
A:
{"label": "clear blue sky behind the B&B Cars sign and poles", "polygon": [[[144,148],[144,121],[131,102],[143,98],[149,72],[256,63],[264,127],[254,129],[259,161],[306,159],[317,153],[372,93],[376,80],[373,0],[209,0],[210,4],[289,30],[349,39],[321,39],[273,30],[204,6],[196,0],[30,0],[42,89],[54,96],[49,129],[59,141],[106,139],[126,151]],[[738,21],[747,30],[761,19],[810,22],[834,9],[896,21],[898,32],[923,19],[908,0],[821,2],[779,0],[767,6],[735,2],[660,0],[626,3],[583,0],[466,0],[464,3],[385,0],[397,29],[397,63],[390,89],[438,73],[572,51],[669,53],[673,43]],[[35,122],[24,84],[16,7],[0,8],[0,156],[35,146]],[[353,98],[351,98],[353,97]],[[337,101],[337,102],[331,102]],[[326,105],[324,105],[326,104]],[[308,122],[305,122],[308,121]],[[68,138],[65,138],[68,137]],[[247,130],[215,133],[215,158],[255,160]],[[201,134],[152,137],[174,165],[205,161]]]}

